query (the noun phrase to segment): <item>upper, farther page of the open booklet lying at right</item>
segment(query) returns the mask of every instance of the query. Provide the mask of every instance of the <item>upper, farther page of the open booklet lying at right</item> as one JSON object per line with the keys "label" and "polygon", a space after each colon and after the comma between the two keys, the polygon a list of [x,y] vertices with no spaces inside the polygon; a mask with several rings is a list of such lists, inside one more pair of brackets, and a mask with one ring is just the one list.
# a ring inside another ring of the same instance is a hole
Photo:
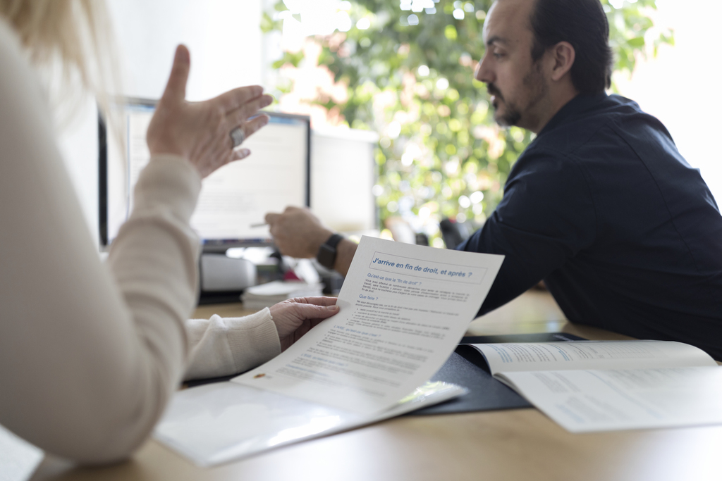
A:
{"label": "upper, farther page of the open booklet lying at right", "polygon": [[692,345],[658,340],[583,340],[567,343],[471,344],[492,374],[567,369],[646,369],[717,366]]}

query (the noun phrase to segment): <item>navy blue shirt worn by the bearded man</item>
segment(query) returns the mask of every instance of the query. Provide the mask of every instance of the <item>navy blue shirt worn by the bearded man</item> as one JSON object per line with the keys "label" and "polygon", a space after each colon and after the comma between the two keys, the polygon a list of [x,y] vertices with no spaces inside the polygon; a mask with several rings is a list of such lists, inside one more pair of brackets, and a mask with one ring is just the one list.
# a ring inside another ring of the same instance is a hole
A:
{"label": "navy blue shirt worn by the bearded man", "polygon": [[722,217],[664,125],[624,97],[562,107],[458,249],[506,256],[479,314],[543,279],[572,322],[722,359]]}

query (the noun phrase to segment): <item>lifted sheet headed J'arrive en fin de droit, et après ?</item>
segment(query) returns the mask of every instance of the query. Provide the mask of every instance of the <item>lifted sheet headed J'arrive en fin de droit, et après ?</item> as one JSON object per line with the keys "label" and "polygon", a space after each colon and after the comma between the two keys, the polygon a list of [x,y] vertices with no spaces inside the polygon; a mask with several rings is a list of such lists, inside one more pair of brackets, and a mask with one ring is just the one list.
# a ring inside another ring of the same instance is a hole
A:
{"label": "lifted sheet headed J'arrive en fin de droit, et apr\u00e8s ?", "polygon": [[362,237],[339,314],[232,381],[362,414],[391,407],[451,355],[502,261]]}

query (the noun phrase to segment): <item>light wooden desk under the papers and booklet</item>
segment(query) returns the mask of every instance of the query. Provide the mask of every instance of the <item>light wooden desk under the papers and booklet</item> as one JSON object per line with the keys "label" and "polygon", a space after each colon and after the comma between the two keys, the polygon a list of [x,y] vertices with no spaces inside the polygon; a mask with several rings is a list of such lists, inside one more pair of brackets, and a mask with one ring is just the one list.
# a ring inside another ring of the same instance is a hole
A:
{"label": "light wooden desk under the papers and booklet", "polygon": [[[197,317],[242,314],[203,306]],[[564,331],[624,336],[563,319],[551,297],[531,291],[471,323],[470,335]],[[722,400],[721,400],[722,402]],[[33,480],[721,480],[722,426],[570,434],[534,409],[396,418],[283,447],[211,469],[156,441],[130,462],[77,469],[47,458]]]}

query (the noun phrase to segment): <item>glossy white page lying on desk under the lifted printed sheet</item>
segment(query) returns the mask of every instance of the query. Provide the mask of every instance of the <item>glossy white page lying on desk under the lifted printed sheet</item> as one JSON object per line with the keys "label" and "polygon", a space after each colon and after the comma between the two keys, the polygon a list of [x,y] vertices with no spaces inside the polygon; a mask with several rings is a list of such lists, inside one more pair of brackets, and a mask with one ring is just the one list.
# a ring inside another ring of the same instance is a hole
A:
{"label": "glossy white page lying on desk under the lifted printed sheet", "polygon": [[175,393],[155,427],[155,437],[199,466],[213,466],[376,423],[465,392],[454,384],[427,382],[390,410],[364,416],[233,382],[218,382]]}

